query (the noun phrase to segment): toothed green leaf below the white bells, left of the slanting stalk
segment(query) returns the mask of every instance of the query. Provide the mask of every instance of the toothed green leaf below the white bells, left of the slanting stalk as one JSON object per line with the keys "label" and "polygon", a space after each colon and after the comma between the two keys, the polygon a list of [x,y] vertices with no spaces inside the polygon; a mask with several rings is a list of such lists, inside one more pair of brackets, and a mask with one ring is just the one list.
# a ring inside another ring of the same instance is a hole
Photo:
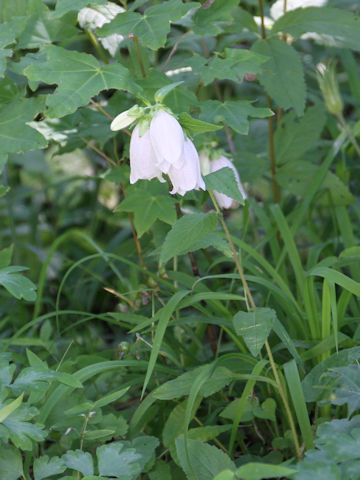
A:
{"label": "toothed green leaf below the white bells, left of the slanting stalk", "polygon": [[204,237],[214,232],[217,225],[215,213],[193,213],[181,217],[166,235],[160,253],[160,262],[166,263],[176,255],[197,250]]}

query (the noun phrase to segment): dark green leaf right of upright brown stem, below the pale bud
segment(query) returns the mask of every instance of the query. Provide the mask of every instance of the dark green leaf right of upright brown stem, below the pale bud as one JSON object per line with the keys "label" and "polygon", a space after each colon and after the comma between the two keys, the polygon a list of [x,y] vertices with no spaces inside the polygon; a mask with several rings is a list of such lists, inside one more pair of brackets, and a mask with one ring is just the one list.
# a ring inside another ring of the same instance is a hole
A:
{"label": "dark green leaf right of upright brown stem, below the pale bud", "polygon": [[277,165],[301,159],[315,146],[325,121],[326,111],[322,104],[309,107],[300,119],[293,111],[284,115],[274,137]]}

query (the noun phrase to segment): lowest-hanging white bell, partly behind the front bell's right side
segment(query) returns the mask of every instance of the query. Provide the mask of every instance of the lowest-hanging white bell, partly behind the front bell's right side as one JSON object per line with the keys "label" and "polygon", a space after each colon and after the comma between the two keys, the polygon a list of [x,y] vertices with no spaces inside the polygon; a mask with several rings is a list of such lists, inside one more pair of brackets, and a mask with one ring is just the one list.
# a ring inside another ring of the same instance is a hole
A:
{"label": "lowest-hanging white bell, partly behind the front bell's right side", "polygon": [[182,167],[171,167],[169,170],[169,177],[173,184],[171,193],[185,195],[190,190],[199,190],[200,188],[205,190],[205,182],[200,171],[199,155],[190,139],[184,142],[182,162]]}

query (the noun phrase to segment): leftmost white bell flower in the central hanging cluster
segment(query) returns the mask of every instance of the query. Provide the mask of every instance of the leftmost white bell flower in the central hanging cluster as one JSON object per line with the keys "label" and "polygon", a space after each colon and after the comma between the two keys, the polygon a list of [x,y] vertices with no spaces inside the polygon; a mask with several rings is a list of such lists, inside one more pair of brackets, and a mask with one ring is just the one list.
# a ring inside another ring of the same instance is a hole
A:
{"label": "leftmost white bell flower in the central hanging cluster", "polygon": [[137,124],[130,140],[130,183],[153,178],[165,182],[161,170],[156,165],[156,155],[151,145],[150,131],[147,129],[140,136],[140,125]]}

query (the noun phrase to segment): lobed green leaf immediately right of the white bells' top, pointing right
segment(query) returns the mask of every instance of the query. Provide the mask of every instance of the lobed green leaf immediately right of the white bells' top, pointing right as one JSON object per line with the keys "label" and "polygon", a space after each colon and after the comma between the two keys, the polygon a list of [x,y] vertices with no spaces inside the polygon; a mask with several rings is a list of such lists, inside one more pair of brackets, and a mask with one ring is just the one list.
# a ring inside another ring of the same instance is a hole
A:
{"label": "lobed green leaf immediately right of the white bells' top, pointing right", "polygon": [[237,133],[246,135],[249,131],[249,117],[265,118],[273,115],[268,108],[254,107],[247,100],[227,100],[222,103],[218,100],[201,102],[200,119],[207,122],[228,125]]}

